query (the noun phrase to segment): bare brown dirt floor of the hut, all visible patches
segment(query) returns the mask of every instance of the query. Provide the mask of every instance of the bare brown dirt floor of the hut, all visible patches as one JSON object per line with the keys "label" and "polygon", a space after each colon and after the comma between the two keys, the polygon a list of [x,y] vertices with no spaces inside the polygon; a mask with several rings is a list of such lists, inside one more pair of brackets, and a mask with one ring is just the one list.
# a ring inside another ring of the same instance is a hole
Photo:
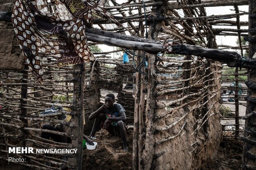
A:
{"label": "bare brown dirt floor of the hut, all visible patches", "polygon": [[[133,130],[128,130],[128,152],[123,151],[119,136],[111,136],[105,130],[96,133],[95,150],[83,150],[83,169],[86,170],[132,170]],[[225,137],[218,153],[201,170],[239,170],[242,163],[242,142]],[[0,170],[28,170],[27,167],[0,160]]]}

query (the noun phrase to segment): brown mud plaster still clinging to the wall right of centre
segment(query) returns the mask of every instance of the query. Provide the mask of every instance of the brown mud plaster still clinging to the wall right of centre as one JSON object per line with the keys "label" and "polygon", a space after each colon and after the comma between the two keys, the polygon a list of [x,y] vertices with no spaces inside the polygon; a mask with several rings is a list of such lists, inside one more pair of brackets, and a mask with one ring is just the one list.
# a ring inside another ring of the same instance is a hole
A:
{"label": "brown mud plaster still clinging to the wall right of centre", "polygon": [[[207,108],[200,108],[200,101],[168,114],[166,109],[158,109],[156,115],[165,116],[156,121],[156,146],[153,169],[192,170],[200,169],[218,150],[222,141],[219,121],[220,63],[211,64],[214,77],[207,88]],[[206,111],[203,113],[202,111]],[[170,112],[169,112],[170,113]],[[205,116],[202,116],[205,115]]]}

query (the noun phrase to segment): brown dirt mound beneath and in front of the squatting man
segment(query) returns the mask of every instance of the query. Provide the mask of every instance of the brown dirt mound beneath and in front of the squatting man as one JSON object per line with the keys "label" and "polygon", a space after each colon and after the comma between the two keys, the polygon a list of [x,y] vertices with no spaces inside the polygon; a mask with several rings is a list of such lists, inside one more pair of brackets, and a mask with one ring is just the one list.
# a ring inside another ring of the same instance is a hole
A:
{"label": "brown dirt mound beneath and in front of the squatting man", "polygon": [[123,151],[120,136],[111,136],[101,129],[95,134],[96,149],[83,150],[83,169],[89,170],[132,170],[133,166],[133,129],[128,129],[128,152]]}

